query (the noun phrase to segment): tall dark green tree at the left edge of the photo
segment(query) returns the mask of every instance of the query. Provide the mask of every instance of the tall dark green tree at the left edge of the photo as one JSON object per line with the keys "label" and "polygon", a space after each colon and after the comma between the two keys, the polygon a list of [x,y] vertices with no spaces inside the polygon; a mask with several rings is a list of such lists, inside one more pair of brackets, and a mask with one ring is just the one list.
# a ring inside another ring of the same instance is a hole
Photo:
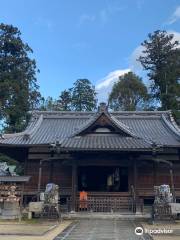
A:
{"label": "tall dark green tree at the left edge of the photo", "polygon": [[28,111],[41,98],[36,79],[36,62],[21,32],[12,25],[0,24],[0,107],[6,132],[21,131]]}

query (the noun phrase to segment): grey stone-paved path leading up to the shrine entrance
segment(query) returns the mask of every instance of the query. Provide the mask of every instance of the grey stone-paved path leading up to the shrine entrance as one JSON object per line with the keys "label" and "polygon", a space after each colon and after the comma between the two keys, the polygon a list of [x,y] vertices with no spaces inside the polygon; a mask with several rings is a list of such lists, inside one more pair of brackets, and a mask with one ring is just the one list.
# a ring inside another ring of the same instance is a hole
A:
{"label": "grey stone-paved path leading up to the shrine entrance", "polygon": [[130,220],[80,220],[59,234],[54,240],[150,240],[137,236],[135,221]]}

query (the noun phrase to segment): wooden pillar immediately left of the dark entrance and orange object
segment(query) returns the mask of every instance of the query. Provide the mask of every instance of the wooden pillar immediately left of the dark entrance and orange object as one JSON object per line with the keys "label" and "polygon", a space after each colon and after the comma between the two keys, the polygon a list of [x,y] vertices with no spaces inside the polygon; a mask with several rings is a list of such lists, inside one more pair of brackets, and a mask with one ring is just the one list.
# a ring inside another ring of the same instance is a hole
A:
{"label": "wooden pillar immediately left of the dark entrance and orange object", "polygon": [[77,194],[77,164],[72,164],[72,193],[71,193],[71,211],[76,211],[76,194]]}

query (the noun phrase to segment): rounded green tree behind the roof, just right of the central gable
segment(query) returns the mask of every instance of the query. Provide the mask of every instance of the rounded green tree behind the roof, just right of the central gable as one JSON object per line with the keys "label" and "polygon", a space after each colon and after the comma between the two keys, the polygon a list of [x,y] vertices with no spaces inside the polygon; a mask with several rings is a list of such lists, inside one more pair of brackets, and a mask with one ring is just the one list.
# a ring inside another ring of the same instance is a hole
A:
{"label": "rounded green tree behind the roof, just right of the central gable", "polygon": [[109,95],[109,106],[114,111],[135,111],[145,108],[148,91],[142,79],[129,72],[119,77]]}

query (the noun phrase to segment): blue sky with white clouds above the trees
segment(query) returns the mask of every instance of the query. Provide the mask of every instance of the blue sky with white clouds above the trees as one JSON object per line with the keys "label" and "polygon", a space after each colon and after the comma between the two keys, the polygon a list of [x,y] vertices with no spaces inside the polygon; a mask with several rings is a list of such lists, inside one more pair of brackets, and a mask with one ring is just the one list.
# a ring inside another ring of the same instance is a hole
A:
{"label": "blue sky with white clouds above the trees", "polygon": [[164,29],[180,40],[179,0],[0,0],[1,22],[13,24],[34,50],[40,90],[57,98],[88,78],[99,100],[136,62],[149,32]]}

